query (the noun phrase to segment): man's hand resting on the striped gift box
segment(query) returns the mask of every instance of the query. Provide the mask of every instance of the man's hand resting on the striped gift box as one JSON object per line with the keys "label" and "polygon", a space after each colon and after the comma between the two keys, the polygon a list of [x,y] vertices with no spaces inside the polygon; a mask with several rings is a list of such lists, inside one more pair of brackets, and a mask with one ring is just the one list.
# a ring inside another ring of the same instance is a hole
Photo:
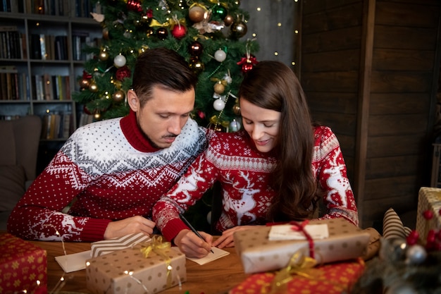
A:
{"label": "man's hand resting on the striped gift box", "polygon": [[111,221],[104,232],[104,240],[132,233],[151,235],[155,226],[156,223],[142,216],[132,216],[120,221]]}

